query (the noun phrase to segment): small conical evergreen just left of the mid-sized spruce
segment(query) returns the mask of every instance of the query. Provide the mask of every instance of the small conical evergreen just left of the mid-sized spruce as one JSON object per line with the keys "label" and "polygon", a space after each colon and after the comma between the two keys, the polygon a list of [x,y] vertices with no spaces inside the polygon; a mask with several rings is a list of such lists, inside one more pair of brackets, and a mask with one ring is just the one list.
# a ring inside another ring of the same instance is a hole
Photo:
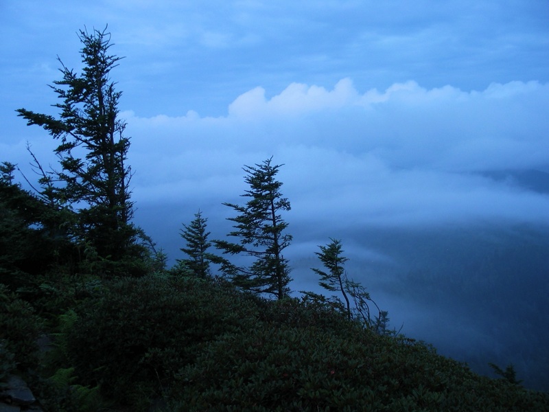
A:
{"label": "small conical evergreen just left of the mid-sized spruce", "polygon": [[194,220],[189,225],[183,225],[181,237],[187,242],[187,247],[180,250],[189,256],[189,259],[178,260],[179,264],[185,265],[198,277],[207,277],[210,275],[211,255],[207,253],[211,242],[208,242],[210,232],[206,231],[208,219],[202,217],[198,211],[194,215]]}

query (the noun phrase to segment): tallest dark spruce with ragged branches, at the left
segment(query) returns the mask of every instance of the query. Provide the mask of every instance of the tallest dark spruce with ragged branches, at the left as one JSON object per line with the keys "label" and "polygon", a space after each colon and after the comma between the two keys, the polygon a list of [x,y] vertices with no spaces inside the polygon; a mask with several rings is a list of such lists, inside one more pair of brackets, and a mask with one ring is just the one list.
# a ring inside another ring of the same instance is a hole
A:
{"label": "tallest dark spruce with ragged branches, at the left", "polygon": [[121,92],[110,80],[110,71],[121,58],[109,54],[112,43],[106,28],[80,30],[79,38],[82,73],[68,69],[58,58],[62,79],[51,86],[61,101],[54,104],[60,109],[58,117],[25,108],[17,112],[28,125],[41,126],[60,140],[55,152],[61,170],[49,172],[57,183],[50,195],[78,209],[79,241],[102,262],[119,262],[131,253],[143,253],[136,247],[140,231],[130,223],[130,139],[124,136],[126,123],[118,118]]}

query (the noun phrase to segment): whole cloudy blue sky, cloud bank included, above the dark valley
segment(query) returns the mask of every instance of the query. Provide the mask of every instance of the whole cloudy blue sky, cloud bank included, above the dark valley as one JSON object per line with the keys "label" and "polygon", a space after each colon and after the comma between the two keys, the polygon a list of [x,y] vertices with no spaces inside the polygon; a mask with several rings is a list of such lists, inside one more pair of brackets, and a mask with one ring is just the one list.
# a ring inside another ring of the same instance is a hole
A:
{"label": "whole cloudy blue sky, cloud bank included, above the dark valley", "polygon": [[546,0],[0,0],[0,161],[32,176],[28,142],[55,165],[15,109],[55,114],[56,58],[81,69],[78,30],[107,24],[135,220],[171,262],[199,209],[231,230],[222,203],[270,157],[296,260],[330,237],[390,260],[373,228],[549,225],[516,178],[548,181]]}

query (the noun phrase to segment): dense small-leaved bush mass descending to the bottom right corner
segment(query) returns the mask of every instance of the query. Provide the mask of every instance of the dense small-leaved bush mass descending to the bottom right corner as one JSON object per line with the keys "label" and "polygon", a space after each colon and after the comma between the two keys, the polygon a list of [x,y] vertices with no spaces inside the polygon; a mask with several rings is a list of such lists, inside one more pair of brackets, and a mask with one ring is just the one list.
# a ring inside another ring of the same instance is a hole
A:
{"label": "dense small-leaved bush mass descending to the bottom right corner", "polygon": [[170,411],[545,411],[425,345],[279,325],[226,334],[181,371]]}

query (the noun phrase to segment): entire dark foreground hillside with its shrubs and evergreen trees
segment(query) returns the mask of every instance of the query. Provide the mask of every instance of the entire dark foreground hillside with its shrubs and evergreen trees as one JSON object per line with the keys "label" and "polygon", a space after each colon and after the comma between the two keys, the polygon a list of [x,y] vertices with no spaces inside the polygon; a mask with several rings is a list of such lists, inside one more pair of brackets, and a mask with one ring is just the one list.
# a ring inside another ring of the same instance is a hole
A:
{"label": "entire dark foreground hillside with its shrubs and evergreen trees", "polygon": [[493,366],[504,379],[478,376],[389,330],[347,279],[339,240],[320,247],[327,271],[314,272],[342,299],[290,297],[290,202],[272,159],[244,168],[246,205],[225,203],[239,242],[213,241],[251,264],[209,253],[199,212],[181,233],[189,259],[166,268],[130,220],[129,141],[108,80],[119,58],[105,32],[81,40],[84,74],[63,66],[55,82],[67,87],[54,87],[60,118],[19,110],[61,139],[62,172],[32,155],[29,192],[15,165],[0,166],[0,385],[21,375],[54,412],[549,410],[512,366]]}

